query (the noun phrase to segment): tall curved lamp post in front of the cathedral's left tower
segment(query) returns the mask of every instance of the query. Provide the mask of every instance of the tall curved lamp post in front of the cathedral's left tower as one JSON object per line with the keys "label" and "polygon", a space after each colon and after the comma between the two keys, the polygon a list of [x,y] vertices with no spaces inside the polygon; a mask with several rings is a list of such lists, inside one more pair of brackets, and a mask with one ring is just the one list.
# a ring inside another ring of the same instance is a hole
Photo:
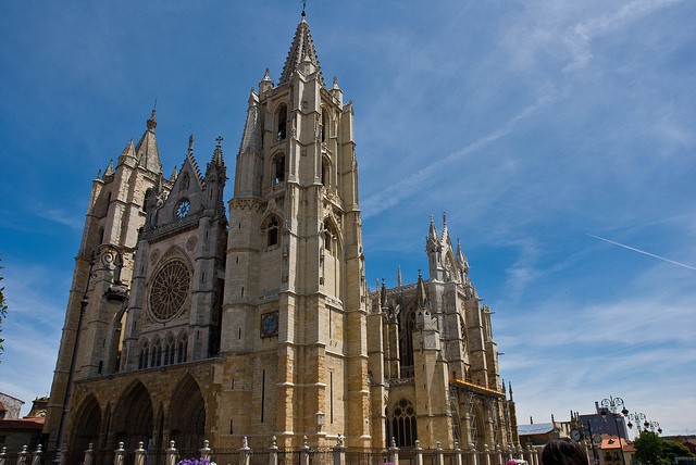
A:
{"label": "tall curved lamp post in front of the cathedral's left tower", "polygon": [[[99,264],[97,260],[99,259]],[[95,267],[98,265],[98,267]],[[63,398],[63,411],[61,412],[61,419],[58,424],[58,440],[55,442],[55,456],[53,457],[53,464],[65,463],[65,452],[63,450],[63,443],[65,442],[65,419],[67,417],[69,404],[73,393],[73,378],[75,372],[75,363],[77,361],[77,349],[79,347],[79,336],[82,334],[83,317],[85,311],[89,304],[89,284],[91,278],[97,276],[97,272],[113,272],[113,285],[109,287],[104,297],[108,300],[124,301],[127,299],[128,291],[126,286],[121,282],[121,269],[123,268],[123,255],[119,248],[110,243],[102,243],[97,246],[91,251],[89,259],[89,273],[87,273],[87,282],[85,284],[85,291],[83,298],[79,301],[79,313],[77,314],[77,326],[75,327],[75,343],[73,344],[73,353],[70,360],[70,368],[67,370],[67,385],[65,387],[65,397]]]}

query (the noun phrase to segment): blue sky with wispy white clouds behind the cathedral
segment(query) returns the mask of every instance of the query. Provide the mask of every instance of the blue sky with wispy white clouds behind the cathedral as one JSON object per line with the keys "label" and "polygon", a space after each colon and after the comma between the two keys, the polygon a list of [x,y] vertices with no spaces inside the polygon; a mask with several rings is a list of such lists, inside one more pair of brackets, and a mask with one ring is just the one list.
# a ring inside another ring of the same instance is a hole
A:
{"label": "blue sky with wispy white clouds behind the cathedral", "polygon": [[[232,178],[249,89],[277,80],[300,10],[2,2],[0,391],[50,390],[98,171],[157,99],[164,172],[189,134],[201,163],[222,135]],[[521,424],[618,395],[696,432],[696,2],[310,1],[308,22],[355,102],[371,286],[397,265],[414,281],[446,211]]]}

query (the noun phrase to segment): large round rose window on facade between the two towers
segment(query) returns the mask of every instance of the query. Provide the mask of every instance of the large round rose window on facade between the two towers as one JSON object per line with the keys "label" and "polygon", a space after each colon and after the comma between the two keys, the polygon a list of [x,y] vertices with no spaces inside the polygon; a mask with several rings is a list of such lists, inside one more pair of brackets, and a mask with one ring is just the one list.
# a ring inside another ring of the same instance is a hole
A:
{"label": "large round rose window on facade between the two towers", "polygon": [[161,322],[172,319],[182,311],[188,288],[190,273],[183,262],[170,262],[158,272],[150,287],[150,313]]}

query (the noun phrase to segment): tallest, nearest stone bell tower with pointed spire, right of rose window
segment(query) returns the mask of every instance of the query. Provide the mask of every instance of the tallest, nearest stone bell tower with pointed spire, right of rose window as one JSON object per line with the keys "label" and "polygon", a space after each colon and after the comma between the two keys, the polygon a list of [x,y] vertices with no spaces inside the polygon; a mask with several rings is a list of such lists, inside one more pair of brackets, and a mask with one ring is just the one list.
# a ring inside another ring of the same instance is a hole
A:
{"label": "tallest, nearest stone bell tower with pointed spire, right of rose window", "polygon": [[229,218],[220,428],[369,447],[353,109],[326,88],[304,13],[277,84],[266,70],[249,96]]}

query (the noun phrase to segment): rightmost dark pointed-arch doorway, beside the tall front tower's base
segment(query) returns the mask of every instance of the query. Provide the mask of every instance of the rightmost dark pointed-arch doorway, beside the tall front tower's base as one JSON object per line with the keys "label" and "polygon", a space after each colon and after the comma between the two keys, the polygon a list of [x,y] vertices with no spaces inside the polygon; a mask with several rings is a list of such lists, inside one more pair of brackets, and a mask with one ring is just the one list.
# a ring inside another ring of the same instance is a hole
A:
{"label": "rightmost dark pointed-arch doorway, beside the tall front tower's base", "polygon": [[179,453],[196,452],[206,439],[206,402],[192,376],[178,384],[170,403],[170,439],[176,441]]}

